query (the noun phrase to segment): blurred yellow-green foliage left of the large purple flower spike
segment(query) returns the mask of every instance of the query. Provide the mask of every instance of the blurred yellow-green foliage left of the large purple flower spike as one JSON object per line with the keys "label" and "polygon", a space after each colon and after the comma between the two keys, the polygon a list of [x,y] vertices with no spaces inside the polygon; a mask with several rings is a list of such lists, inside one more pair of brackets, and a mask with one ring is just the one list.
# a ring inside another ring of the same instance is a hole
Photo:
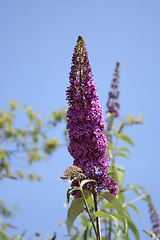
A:
{"label": "blurred yellow-green foliage left of the large purple flower spike", "polygon": [[[57,147],[62,145],[56,137],[50,137],[52,132],[54,134],[57,124],[62,121],[66,121],[64,108],[53,111],[45,120],[28,105],[20,105],[15,101],[9,102],[7,110],[0,110],[0,179],[28,178],[31,181],[41,181],[40,175],[34,172],[26,173],[22,167],[15,168],[15,165],[18,166],[15,162],[23,160],[31,166],[33,163],[47,159]],[[24,125],[21,122],[24,122]],[[4,231],[8,227],[15,228],[8,223],[12,211],[8,210],[5,202],[0,200],[0,236],[4,240],[6,238]],[[11,239],[22,238],[23,234]]]}

